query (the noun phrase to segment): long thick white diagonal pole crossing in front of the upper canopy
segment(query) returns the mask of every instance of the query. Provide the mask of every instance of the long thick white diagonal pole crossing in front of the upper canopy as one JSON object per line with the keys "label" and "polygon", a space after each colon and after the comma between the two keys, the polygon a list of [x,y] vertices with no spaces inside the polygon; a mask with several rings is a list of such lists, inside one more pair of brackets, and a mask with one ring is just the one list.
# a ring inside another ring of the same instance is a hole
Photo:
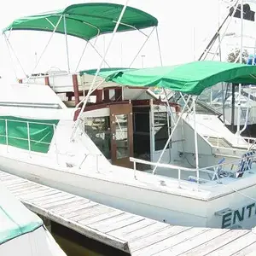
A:
{"label": "long thick white diagonal pole crossing in front of the upper canopy", "polygon": [[108,50],[110,49],[110,46],[111,46],[111,44],[112,44],[114,35],[115,35],[115,33],[117,32],[117,30],[118,30],[118,28],[119,28],[119,24],[120,24],[120,22],[121,22],[121,20],[122,20],[122,18],[123,18],[123,15],[125,14],[125,9],[126,9],[128,3],[129,3],[129,0],[126,0],[126,3],[125,3],[125,5],[124,5],[124,7],[123,7],[123,9],[122,9],[122,11],[121,11],[121,13],[120,13],[120,15],[119,15],[119,20],[117,21],[116,25],[114,26],[113,33],[112,33],[112,37],[111,37],[111,39],[110,39],[110,41],[109,41],[109,43],[108,43],[108,47],[107,47],[107,49],[106,49],[106,52],[105,52],[105,54],[103,55],[102,61],[101,61],[100,65],[99,65],[99,67],[97,68],[97,71],[96,71],[96,74],[95,74],[95,76],[94,76],[94,78],[93,78],[93,80],[92,80],[92,83],[90,84],[90,89],[88,90],[88,93],[87,93],[87,95],[86,95],[86,97],[85,97],[85,99],[84,99],[84,104],[83,104],[83,106],[82,106],[82,108],[81,108],[81,110],[80,110],[80,112],[79,112],[79,116],[78,116],[78,118],[77,118],[77,122],[76,122],[75,127],[74,127],[74,130],[73,130],[73,134],[72,134],[72,136],[71,136],[71,140],[72,140],[72,141],[73,141],[73,137],[74,137],[74,135],[75,135],[75,132],[77,131],[77,128],[79,127],[79,121],[80,121],[81,115],[82,115],[82,113],[84,113],[84,108],[85,108],[85,106],[86,106],[86,104],[87,104],[87,102],[88,102],[90,93],[91,93],[91,91],[93,90],[93,86],[94,86],[94,84],[96,83],[97,76],[98,76],[98,74],[100,73],[100,70],[101,70],[101,68],[102,68],[102,64],[103,64],[103,62],[104,62],[106,56],[108,55]]}

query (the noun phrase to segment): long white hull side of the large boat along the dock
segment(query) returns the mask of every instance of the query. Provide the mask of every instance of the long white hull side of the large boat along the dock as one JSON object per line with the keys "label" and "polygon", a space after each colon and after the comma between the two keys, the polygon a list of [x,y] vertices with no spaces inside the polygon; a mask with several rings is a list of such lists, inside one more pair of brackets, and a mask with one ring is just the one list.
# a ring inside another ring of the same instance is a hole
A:
{"label": "long white hull side of the large boat along the dock", "polygon": [[[113,182],[103,179],[103,177],[64,172],[3,156],[0,156],[0,169],[33,182],[169,224],[221,228],[223,218],[216,216],[214,212],[227,207],[227,201],[229,207],[239,208],[246,204],[244,198],[241,197],[237,201],[234,195],[204,201],[162,192],[159,189],[145,189]],[[255,191],[255,187],[251,189]],[[243,202],[242,205],[241,202]],[[252,228],[255,225],[256,215],[251,217],[242,219],[243,228]]]}

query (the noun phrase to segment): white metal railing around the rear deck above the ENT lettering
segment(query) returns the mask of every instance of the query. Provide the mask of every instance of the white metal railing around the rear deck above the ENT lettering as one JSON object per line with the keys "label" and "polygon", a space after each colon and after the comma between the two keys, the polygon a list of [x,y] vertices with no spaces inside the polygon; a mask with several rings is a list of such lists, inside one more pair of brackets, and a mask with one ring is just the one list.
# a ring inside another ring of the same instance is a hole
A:
{"label": "white metal railing around the rear deck above the ENT lettering", "polygon": [[[133,162],[133,170],[134,170],[134,178],[137,179],[137,169],[136,169],[136,164],[140,163],[140,164],[144,164],[144,165],[149,165],[149,166],[156,166],[156,167],[162,167],[162,168],[167,168],[167,169],[174,169],[177,170],[177,187],[181,188],[181,171],[183,172],[195,172],[196,174],[196,183],[199,185],[200,181],[204,181],[204,183],[207,182],[211,182],[215,179],[216,177],[216,181],[217,183],[221,183],[220,181],[220,177],[218,175],[218,171],[222,171],[227,173],[227,175],[229,177],[235,177],[235,173],[239,170],[239,166],[241,164],[241,160],[252,160],[252,162],[254,162],[254,159],[256,158],[255,154],[252,154],[251,156],[245,156],[243,158],[239,158],[237,160],[233,160],[233,161],[227,161],[227,162],[223,162],[221,164],[218,165],[214,165],[214,166],[207,166],[207,167],[203,167],[203,168],[187,168],[187,167],[182,167],[182,166],[174,166],[174,165],[170,165],[170,164],[161,164],[161,163],[154,163],[154,162],[150,162],[147,160],[140,160],[140,159],[136,159],[133,157],[130,157],[131,162]],[[246,162],[247,165],[247,162]],[[224,166],[228,166],[227,169],[223,169]],[[236,167],[236,169],[235,169]],[[250,170],[251,168],[248,168],[247,170]],[[208,175],[211,174],[212,177],[209,176],[209,179],[204,179],[199,177],[199,173],[200,172],[205,172]],[[246,172],[246,171],[245,171]],[[152,174],[154,175],[154,172],[152,172]]]}

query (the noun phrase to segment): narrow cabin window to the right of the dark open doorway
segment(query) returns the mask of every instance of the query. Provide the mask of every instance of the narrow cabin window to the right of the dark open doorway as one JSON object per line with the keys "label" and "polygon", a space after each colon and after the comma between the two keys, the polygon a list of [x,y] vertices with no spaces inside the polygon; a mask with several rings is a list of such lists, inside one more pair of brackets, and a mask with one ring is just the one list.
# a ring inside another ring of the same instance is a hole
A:
{"label": "narrow cabin window to the right of the dark open doorway", "polygon": [[[169,117],[168,125],[168,116],[166,112],[155,112],[154,113],[154,150],[162,150],[165,148],[166,142],[169,137],[168,129],[171,132],[171,119]],[[169,148],[169,145],[167,146]]]}

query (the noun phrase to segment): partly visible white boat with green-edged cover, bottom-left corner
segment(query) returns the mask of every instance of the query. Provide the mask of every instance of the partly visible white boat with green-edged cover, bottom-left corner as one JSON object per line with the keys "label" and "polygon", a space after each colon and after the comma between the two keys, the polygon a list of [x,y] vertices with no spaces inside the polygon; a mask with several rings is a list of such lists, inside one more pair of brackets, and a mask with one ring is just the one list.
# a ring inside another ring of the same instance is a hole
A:
{"label": "partly visible white boat with green-edged cover, bottom-left corner", "polygon": [[44,226],[0,183],[0,255],[66,256]]}

